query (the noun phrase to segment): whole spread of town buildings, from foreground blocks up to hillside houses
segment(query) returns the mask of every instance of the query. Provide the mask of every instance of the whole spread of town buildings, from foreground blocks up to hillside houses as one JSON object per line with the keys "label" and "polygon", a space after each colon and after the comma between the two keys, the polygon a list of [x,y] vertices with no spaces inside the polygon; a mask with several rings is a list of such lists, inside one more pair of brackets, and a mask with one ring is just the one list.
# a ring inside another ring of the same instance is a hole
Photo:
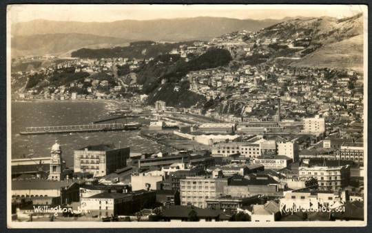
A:
{"label": "whole spread of town buildings, from foreground blocks up to hillside houses", "polygon": [[[170,54],[187,59],[214,46],[251,57],[267,53],[261,45],[303,47],[309,41],[255,37],[256,32],[232,32],[209,43],[180,45]],[[254,42],[243,43],[247,39]],[[76,72],[103,72],[114,65],[135,70],[139,62],[148,60],[74,59],[41,72],[72,66]],[[360,74],[242,65],[192,71],[186,78],[189,90],[215,101],[214,108],[176,108],[156,101],[137,109],[149,110],[149,132],[164,131],[207,149],[138,154],[130,148],[87,145],[74,150],[74,164],[68,168],[55,143],[51,156],[12,160],[14,218],[32,221],[45,216],[34,206],[63,205],[72,207],[77,219],[99,221],[236,221],[238,214],[255,222],[363,220],[366,154]],[[87,78],[68,88],[55,87],[43,98],[111,98],[129,86],[119,84]],[[65,92],[75,85],[88,94]],[[98,86],[109,86],[109,92],[97,96]],[[145,98],[135,94],[132,100],[143,103]],[[191,115],[208,120],[198,122]],[[311,207],[332,214],[295,211]]]}

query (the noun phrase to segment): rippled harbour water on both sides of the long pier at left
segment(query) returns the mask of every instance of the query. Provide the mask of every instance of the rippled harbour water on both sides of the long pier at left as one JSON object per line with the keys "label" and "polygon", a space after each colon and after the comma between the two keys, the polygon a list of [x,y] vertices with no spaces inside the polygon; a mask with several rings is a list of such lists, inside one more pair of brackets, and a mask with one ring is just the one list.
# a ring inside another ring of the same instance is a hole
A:
{"label": "rippled harbour water on both sides of the long pier at left", "polygon": [[[74,150],[100,143],[116,147],[130,146],[131,152],[159,152],[165,150],[138,135],[139,131],[74,132],[66,134],[20,135],[31,126],[90,124],[108,117],[107,112],[122,108],[116,101],[29,101],[12,102],[12,158],[50,156],[54,141],[61,144],[63,159],[73,165]],[[141,121],[128,119],[127,121]],[[117,119],[116,123],[125,123]],[[114,122],[112,122],[114,123]]]}

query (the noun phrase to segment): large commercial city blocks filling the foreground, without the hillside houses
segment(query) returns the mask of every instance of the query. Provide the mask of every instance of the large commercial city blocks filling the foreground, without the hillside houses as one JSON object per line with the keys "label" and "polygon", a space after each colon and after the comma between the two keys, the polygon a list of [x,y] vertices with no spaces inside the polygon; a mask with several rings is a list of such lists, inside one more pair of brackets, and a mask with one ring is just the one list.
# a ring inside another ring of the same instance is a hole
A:
{"label": "large commercial city blocks filling the foreground, without the hillside houses", "polygon": [[[232,123],[193,129],[189,134],[236,134]],[[306,119],[300,132],[240,134],[210,150],[157,154],[87,145],[74,150],[73,169],[55,143],[39,163],[12,161],[12,211],[28,220],[45,216],[30,206],[63,205],[78,218],[102,221],[192,221],[191,211],[203,221],[234,221],[240,212],[251,221],[282,221],[293,217],[293,206],[318,203],[351,217],[347,206],[364,201],[362,143],[327,136],[320,117]]]}

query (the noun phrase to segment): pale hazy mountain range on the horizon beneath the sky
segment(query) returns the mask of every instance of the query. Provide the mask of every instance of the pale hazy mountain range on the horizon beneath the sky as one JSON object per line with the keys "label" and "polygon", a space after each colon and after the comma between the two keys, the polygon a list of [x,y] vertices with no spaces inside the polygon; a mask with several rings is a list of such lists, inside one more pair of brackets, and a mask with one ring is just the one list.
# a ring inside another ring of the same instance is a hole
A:
{"label": "pale hazy mountain range on the horizon beneath the sky", "polygon": [[86,23],[39,19],[12,25],[12,55],[58,54],[89,46],[110,48],[128,41],[209,40],[237,30],[260,30],[280,21],[196,17]]}

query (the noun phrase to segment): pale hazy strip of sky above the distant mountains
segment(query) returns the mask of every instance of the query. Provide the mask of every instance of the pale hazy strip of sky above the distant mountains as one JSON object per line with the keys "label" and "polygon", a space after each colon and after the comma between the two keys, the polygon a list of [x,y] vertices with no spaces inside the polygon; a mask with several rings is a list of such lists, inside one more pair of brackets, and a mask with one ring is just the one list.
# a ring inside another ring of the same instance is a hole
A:
{"label": "pale hazy strip of sky above the distant mountains", "polygon": [[12,23],[49,19],[56,21],[118,21],[228,17],[282,19],[284,17],[349,17],[362,11],[358,5],[14,5],[8,6]]}

